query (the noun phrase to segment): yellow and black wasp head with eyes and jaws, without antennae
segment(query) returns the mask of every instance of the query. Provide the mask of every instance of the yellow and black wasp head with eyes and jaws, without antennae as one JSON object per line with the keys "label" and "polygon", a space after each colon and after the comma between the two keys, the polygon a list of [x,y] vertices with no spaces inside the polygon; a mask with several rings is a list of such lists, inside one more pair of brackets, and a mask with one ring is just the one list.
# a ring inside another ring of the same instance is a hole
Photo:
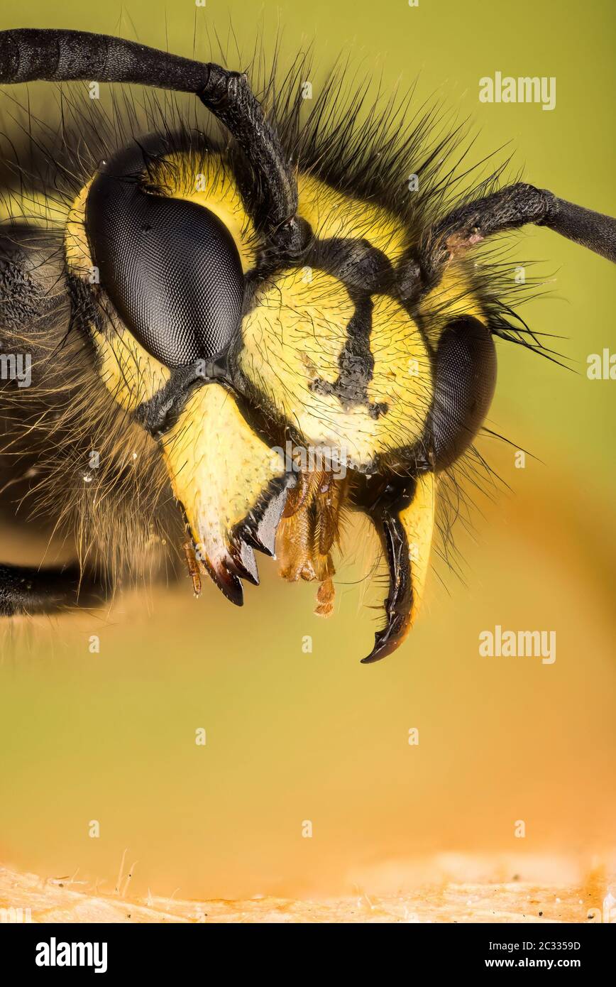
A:
{"label": "yellow and black wasp head with eyes and jaws, without antennae", "polygon": [[241,604],[259,550],[316,581],[327,616],[361,511],[389,571],[375,661],[415,620],[438,476],[488,410],[495,347],[464,265],[418,297],[395,216],[308,174],[297,187],[302,250],[272,255],[223,152],[146,139],[82,190],[66,256],[99,373],[160,443],[195,584],[205,571]]}

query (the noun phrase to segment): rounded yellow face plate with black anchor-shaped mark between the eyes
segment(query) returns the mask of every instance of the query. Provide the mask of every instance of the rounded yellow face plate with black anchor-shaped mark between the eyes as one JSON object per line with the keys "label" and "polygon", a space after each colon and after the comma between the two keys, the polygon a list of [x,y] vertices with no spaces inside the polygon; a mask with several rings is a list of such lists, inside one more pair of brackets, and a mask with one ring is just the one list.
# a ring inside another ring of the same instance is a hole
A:
{"label": "rounded yellow face plate with black anchor-shaped mark between the eyes", "polygon": [[401,305],[377,295],[370,379],[346,385],[341,365],[354,310],[345,284],[331,274],[283,271],[244,319],[238,363],[256,395],[306,445],[336,449],[349,466],[369,468],[378,455],[420,438],[431,368],[417,325]]}

